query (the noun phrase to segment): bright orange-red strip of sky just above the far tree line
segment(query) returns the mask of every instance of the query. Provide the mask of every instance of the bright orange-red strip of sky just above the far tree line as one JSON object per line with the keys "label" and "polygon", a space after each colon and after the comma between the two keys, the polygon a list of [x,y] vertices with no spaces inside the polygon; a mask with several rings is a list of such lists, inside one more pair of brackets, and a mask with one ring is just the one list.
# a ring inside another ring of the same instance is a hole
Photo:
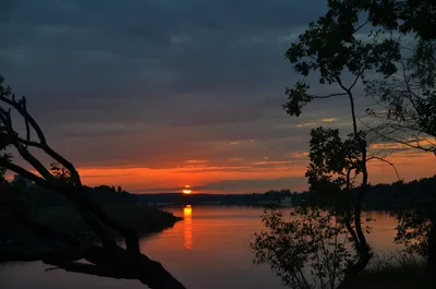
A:
{"label": "bright orange-red strip of sky just above the far tree line", "polygon": [[[431,154],[416,152],[413,155],[397,153],[388,159],[396,165],[400,178],[411,181],[436,174],[433,157]],[[239,166],[201,166],[168,169],[78,167],[77,170],[86,185],[121,185],[132,193],[180,192],[177,188],[183,188],[182,192],[189,194],[192,193],[193,186],[198,188],[197,191],[202,193],[253,193],[270,189],[303,191],[307,188],[304,173],[308,164],[308,158],[306,156],[304,158],[305,161],[296,166],[258,168],[253,165],[251,169],[240,169]],[[391,183],[398,180],[395,170],[385,162],[370,161],[368,171],[370,182],[373,184]],[[287,185],[288,179],[289,185]],[[256,185],[256,181],[261,184]],[[275,181],[277,181],[276,185]],[[252,185],[251,182],[254,184]],[[244,188],[245,183],[246,188]]]}

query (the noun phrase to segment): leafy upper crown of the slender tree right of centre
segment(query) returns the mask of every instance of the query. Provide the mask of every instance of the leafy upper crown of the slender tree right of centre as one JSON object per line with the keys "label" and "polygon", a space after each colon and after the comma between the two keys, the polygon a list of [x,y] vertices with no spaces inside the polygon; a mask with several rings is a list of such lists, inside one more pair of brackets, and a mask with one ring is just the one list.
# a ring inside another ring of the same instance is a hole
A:
{"label": "leafy upper crown of the slender tree right of centre", "polygon": [[[387,75],[397,71],[395,62],[400,59],[398,43],[380,37],[382,32],[375,33],[372,41],[359,39],[356,34],[364,26],[359,15],[360,7],[354,1],[328,1],[326,15],[311,22],[308,28],[291,44],[284,56],[295,72],[302,76],[318,72],[320,84],[338,84],[343,93],[311,95],[310,85],[300,81],[294,88],[286,89],[289,101],[283,108],[287,113],[300,116],[301,109],[313,99],[348,95],[359,80],[365,80],[367,71]],[[343,72],[355,76],[349,86],[342,82]]]}

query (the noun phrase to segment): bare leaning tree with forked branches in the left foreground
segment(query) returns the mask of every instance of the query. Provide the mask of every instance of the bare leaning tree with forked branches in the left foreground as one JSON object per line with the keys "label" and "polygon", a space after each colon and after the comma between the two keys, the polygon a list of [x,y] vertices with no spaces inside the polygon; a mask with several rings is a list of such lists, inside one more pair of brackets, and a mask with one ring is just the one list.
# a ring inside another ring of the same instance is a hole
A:
{"label": "bare leaning tree with forked branches in the left foreground", "polygon": [[[22,137],[14,130],[12,111],[17,112],[24,120],[26,133]],[[36,140],[33,140],[33,133]],[[0,77],[0,148],[8,146],[16,148],[20,156],[35,169],[39,176],[14,164],[10,156],[0,158],[0,167],[14,171],[24,178],[34,181],[37,185],[62,195],[74,204],[85,224],[98,236],[101,245],[82,240],[68,232],[56,230],[37,222],[11,209],[11,214],[20,220],[21,226],[36,233],[46,245],[35,249],[32,256],[25,260],[40,260],[46,264],[62,268],[66,272],[84,273],[102,277],[137,279],[149,288],[184,288],[160,263],[150,260],[141,253],[138,237],[135,231],[125,228],[119,221],[108,216],[99,206],[93,203],[82,185],[81,177],[75,167],[53,150],[47,142],[36,120],[27,111],[26,98],[15,98],[9,87],[3,85]],[[37,148],[51,157],[63,168],[53,170],[52,174],[31,152],[29,147]],[[68,182],[64,178],[68,176]],[[4,190],[1,191],[3,193]],[[121,234],[125,249],[118,245],[111,237],[110,230]],[[50,246],[47,246],[47,245]],[[33,248],[31,245],[31,248]],[[8,256],[8,252],[1,255]],[[85,260],[88,263],[83,263]]]}

